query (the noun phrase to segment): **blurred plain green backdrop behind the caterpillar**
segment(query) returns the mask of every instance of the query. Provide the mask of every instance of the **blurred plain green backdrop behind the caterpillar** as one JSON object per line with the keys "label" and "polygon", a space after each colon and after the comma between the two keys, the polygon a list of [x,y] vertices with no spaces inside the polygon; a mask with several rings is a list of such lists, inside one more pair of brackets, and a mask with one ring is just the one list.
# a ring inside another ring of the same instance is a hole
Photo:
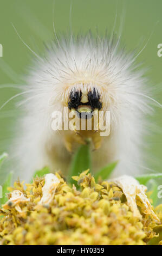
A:
{"label": "blurred plain green backdrop behind the caterpillar", "polygon": [[[159,89],[162,88],[162,57],[157,56],[157,45],[162,44],[161,0],[56,0],[55,5],[53,0],[1,0],[0,4],[0,44],[3,45],[3,57],[0,58],[1,84],[17,83],[26,72],[31,60],[30,51],[18,38],[11,22],[23,40],[34,51],[39,52],[43,50],[43,42],[49,41],[54,36],[53,16],[56,33],[69,30],[69,23],[71,23],[74,34],[80,31],[86,32],[89,29],[95,33],[96,27],[101,34],[104,34],[106,29],[112,31],[117,9],[115,32],[118,34],[124,9],[122,41],[127,50],[134,48],[140,50],[153,32],[137,62],[142,61],[144,68],[149,68],[146,75],[150,84],[153,87],[159,84]],[[72,7],[71,15],[70,6]],[[1,88],[0,105],[16,93],[20,93],[20,90]],[[160,90],[155,92],[154,98],[162,103]],[[15,103],[16,99],[10,101],[0,112],[0,153],[6,150],[5,145],[14,136],[12,122],[17,115]],[[152,136],[148,137],[150,148],[146,149],[150,153],[148,166],[156,172],[162,171],[161,114],[162,110],[156,108],[152,123],[158,128],[154,129]]]}

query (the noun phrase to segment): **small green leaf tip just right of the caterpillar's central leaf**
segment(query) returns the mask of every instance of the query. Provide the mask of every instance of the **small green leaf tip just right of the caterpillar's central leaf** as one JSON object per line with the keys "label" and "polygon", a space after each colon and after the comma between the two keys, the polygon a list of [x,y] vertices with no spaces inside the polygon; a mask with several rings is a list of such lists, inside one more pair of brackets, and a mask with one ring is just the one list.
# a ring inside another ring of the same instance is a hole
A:
{"label": "small green leaf tip just right of the caterpillar's central leaf", "polygon": [[95,180],[97,181],[99,177],[101,177],[102,180],[108,179],[109,175],[111,175],[114,168],[116,167],[116,164],[118,164],[118,161],[115,161],[113,163],[109,163],[108,166],[105,166],[101,170],[99,170],[99,172],[97,172],[94,175]]}

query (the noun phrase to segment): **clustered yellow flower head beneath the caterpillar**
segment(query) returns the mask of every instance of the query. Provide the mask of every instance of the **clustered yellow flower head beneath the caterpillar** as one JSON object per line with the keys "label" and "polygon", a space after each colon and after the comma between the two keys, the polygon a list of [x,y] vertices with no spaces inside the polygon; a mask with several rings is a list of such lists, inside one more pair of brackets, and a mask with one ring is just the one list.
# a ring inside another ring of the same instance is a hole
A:
{"label": "clustered yellow flower head beneath the caterpillar", "polygon": [[[40,204],[45,178],[35,178],[26,189],[20,181],[9,188],[20,190],[16,204],[0,210],[2,245],[162,245],[162,205],[154,209],[161,224],[150,218],[140,198],[142,220],[134,217],[120,187],[113,182],[96,184],[89,170],[73,177],[79,189],[59,180]],[[28,200],[29,199],[29,200]],[[47,203],[46,203],[47,202]],[[158,237],[157,237],[158,236]]]}

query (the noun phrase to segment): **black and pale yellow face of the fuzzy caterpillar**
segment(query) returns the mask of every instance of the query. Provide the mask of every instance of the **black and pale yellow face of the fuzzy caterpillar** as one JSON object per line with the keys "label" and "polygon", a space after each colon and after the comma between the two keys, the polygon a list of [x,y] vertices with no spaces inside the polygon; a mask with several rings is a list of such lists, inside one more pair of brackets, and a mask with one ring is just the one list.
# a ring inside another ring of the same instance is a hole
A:
{"label": "black and pale yellow face of the fuzzy caterpillar", "polygon": [[87,90],[72,90],[69,94],[68,107],[70,110],[75,109],[80,118],[91,118],[92,112],[95,109],[102,108],[100,94],[97,89],[92,88],[89,92]]}

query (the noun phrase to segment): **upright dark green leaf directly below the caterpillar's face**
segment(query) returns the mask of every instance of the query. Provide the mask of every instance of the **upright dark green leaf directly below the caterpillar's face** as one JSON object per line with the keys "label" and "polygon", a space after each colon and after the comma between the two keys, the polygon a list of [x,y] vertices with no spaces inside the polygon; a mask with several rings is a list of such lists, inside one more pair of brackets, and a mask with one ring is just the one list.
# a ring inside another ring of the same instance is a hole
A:
{"label": "upright dark green leaf directly below the caterpillar's face", "polygon": [[84,170],[91,169],[91,156],[89,144],[81,145],[73,156],[73,160],[68,173],[68,181],[74,183],[72,176],[77,176]]}

